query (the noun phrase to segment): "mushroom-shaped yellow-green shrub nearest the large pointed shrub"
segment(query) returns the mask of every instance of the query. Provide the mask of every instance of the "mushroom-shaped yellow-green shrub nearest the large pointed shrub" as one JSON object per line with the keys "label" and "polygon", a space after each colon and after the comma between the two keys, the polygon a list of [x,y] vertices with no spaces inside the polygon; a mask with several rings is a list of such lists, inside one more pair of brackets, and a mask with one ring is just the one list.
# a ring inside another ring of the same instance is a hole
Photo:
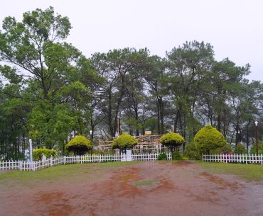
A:
{"label": "mushroom-shaped yellow-green shrub nearest the large pointed shrub", "polygon": [[183,137],[181,135],[178,135],[175,132],[168,132],[166,135],[163,135],[160,140],[161,144],[168,147],[171,152],[174,152],[174,150],[181,146],[185,142]]}

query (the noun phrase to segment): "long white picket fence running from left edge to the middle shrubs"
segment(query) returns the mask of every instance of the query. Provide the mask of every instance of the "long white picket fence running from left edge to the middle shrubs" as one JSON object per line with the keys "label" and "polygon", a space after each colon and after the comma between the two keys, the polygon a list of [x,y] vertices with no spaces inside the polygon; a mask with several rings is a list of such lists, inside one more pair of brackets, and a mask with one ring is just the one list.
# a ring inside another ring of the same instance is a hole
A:
{"label": "long white picket fence running from left edge to the middle shrubs", "polygon": [[[167,159],[171,160],[171,152],[166,153]],[[159,154],[132,154],[132,161],[154,161]],[[21,171],[36,171],[58,164],[84,164],[84,163],[103,163],[108,161],[123,161],[120,155],[106,154],[106,155],[84,155],[84,156],[64,156],[58,158],[50,158],[41,161],[33,161],[33,163],[26,161],[0,161],[0,170],[18,169]]]}

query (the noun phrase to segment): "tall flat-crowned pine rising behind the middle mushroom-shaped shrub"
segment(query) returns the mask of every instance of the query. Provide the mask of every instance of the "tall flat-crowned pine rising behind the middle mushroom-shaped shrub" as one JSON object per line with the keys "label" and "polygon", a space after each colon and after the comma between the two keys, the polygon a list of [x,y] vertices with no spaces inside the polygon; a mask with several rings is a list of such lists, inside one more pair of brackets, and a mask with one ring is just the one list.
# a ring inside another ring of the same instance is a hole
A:
{"label": "tall flat-crowned pine rising behind the middle mushroom-shaped shrub", "polygon": [[[102,112],[109,128],[109,134],[115,137],[122,101],[130,84],[129,77],[140,76],[141,64],[146,62],[149,51],[124,48],[96,53],[92,56],[92,65],[104,77],[104,100]],[[135,75],[134,75],[135,74]]]}

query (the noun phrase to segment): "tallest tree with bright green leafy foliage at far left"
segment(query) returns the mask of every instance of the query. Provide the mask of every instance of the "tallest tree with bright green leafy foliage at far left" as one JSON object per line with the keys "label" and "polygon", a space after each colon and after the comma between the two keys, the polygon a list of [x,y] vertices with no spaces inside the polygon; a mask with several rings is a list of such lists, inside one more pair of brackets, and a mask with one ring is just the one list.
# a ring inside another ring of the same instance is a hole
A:
{"label": "tallest tree with bright green leafy foliage at far left", "polygon": [[[12,143],[18,147],[14,152],[7,149],[8,158],[19,157],[21,143],[15,143],[14,137],[19,137],[16,140],[32,137],[37,147],[60,147],[64,152],[70,132],[87,134],[90,86],[97,84],[98,74],[89,59],[65,42],[70,29],[68,17],[58,15],[52,7],[23,13],[21,22],[10,16],[3,21],[0,74],[7,83],[3,91],[0,83],[0,103],[4,92],[4,100],[14,111],[9,112],[12,121],[1,107],[0,115],[8,117],[4,119],[6,123],[14,122],[9,124],[14,134],[9,132],[9,137],[4,137],[7,142],[4,145]],[[16,101],[12,102],[13,99]],[[0,125],[6,127],[3,122]],[[4,132],[2,128],[0,131]],[[23,149],[26,148],[23,143]]]}

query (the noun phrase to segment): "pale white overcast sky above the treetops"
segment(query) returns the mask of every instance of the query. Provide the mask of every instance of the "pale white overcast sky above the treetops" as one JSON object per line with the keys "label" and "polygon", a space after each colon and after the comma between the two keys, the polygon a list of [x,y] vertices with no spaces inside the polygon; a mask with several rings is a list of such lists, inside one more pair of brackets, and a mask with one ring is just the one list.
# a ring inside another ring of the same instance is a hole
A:
{"label": "pale white overcast sky above the treetops", "polygon": [[249,63],[248,79],[263,81],[262,0],[8,0],[1,1],[0,21],[21,21],[23,12],[48,6],[70,18],[68,42],[87,57],[123,47],[165,57],[186,40],[203,40],[213,45],[215,59]]}

